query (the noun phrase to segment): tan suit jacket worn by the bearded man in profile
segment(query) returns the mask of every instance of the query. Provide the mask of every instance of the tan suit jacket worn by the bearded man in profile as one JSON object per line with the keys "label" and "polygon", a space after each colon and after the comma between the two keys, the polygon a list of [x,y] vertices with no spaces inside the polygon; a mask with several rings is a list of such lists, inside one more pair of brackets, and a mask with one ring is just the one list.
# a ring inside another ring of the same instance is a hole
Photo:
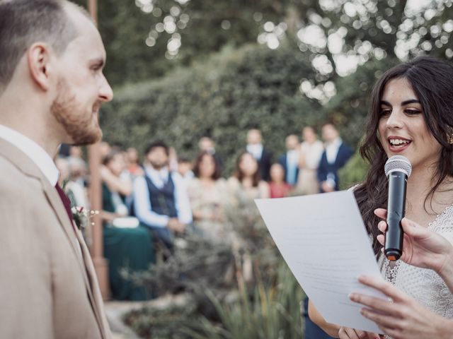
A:
{"label": "tan suit jacket worn by the bearded man in profile", "polygon": [[57,190],[0,138],[0,338],[110,338],[91,256]]}

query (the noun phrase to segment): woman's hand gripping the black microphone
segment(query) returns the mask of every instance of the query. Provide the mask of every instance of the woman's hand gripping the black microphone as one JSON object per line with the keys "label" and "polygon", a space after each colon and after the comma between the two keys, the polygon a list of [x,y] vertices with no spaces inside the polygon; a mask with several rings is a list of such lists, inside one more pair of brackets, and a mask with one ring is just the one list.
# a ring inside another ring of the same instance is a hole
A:
{"label": "woman's hand gripping the black microphone", "polygon": [[[385,233],[387,224],[384,220],[387,211],[384,208],[377,208],[374,214],[383,219],[377,227]],[[449,261],[453,258],[453,246],[447,239],[408,218],[403,218],[401,225],[404,231],[403,253],[400,258],[402,261],[413,266],[430,268],[439,274],[451,264]],[[379,234],[377,240],[384,246],[384,234]]]}

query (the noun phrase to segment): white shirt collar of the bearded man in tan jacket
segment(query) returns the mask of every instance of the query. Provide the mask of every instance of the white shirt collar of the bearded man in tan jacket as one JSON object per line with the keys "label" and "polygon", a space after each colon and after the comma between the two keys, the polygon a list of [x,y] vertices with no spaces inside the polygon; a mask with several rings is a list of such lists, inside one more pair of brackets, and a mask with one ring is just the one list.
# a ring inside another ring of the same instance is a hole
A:
{"label": "white shirt collar of the bearded man in tan jacket", "polygon": [[42,174],[49,180],[52,186],[55,186],[58,181],[59,172],[57,166],[55,166],[52,157],[42,148],[38,143],[24,136],[18,131],[14,131],[9,127],[0,125],[0,138],[12,143],[25,155],[35,162]]}

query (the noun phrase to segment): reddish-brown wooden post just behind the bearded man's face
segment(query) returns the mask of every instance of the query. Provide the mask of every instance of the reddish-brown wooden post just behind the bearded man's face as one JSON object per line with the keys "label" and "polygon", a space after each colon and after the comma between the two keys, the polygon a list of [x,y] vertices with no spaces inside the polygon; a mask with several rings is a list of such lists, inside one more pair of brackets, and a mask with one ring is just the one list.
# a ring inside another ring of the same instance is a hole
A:
{"label": "reddish-brown wooden post just behind the bearded man's face", "polygon": [[[93,20],[98,21],[97,0],[88,0],[88,11]],[[99,143],[88,146],[88,163],[90,167],[90,204],[92,210],[101,211],[102,192],[101,192],[101,155],[99,153]],[[98,276],[99,287],[104,300],[110,299],[110,286],[108,284],[108,261],[105,260],[103,251],[103,230],[100,215],[93,215],[93,243],[91,244],[91,256],[93,258],[94,269]]]}

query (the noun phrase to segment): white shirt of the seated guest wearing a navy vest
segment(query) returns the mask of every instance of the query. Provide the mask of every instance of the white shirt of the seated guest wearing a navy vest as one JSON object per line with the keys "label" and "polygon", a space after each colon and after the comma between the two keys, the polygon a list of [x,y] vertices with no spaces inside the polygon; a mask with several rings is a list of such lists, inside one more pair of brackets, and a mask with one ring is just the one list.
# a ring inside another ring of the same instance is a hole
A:
{"label": "white shirt of the seated guest wearing a navy vest", "polygon": [[[178,213],[178,220],[183,224],[190,224],[192,222],[192,210],[190,209],[190,202],[185,183],[176,172],[169,174],[168,168],[163,168],[159,171],[153,167],[145,167],[145,175],[147,175],[151,182],[161,189],[168,180],[168,175],[171,175],[173,184],[175,185],[175,206]],[[134,211],[137,218],[144,222],[144,224],[153,227],[166,227],[170,217],[168,215],[161,215],[154,212],[151,208],[151,201],[149,199],[149,190],[147,180],[140,176],[134,180]]]}

